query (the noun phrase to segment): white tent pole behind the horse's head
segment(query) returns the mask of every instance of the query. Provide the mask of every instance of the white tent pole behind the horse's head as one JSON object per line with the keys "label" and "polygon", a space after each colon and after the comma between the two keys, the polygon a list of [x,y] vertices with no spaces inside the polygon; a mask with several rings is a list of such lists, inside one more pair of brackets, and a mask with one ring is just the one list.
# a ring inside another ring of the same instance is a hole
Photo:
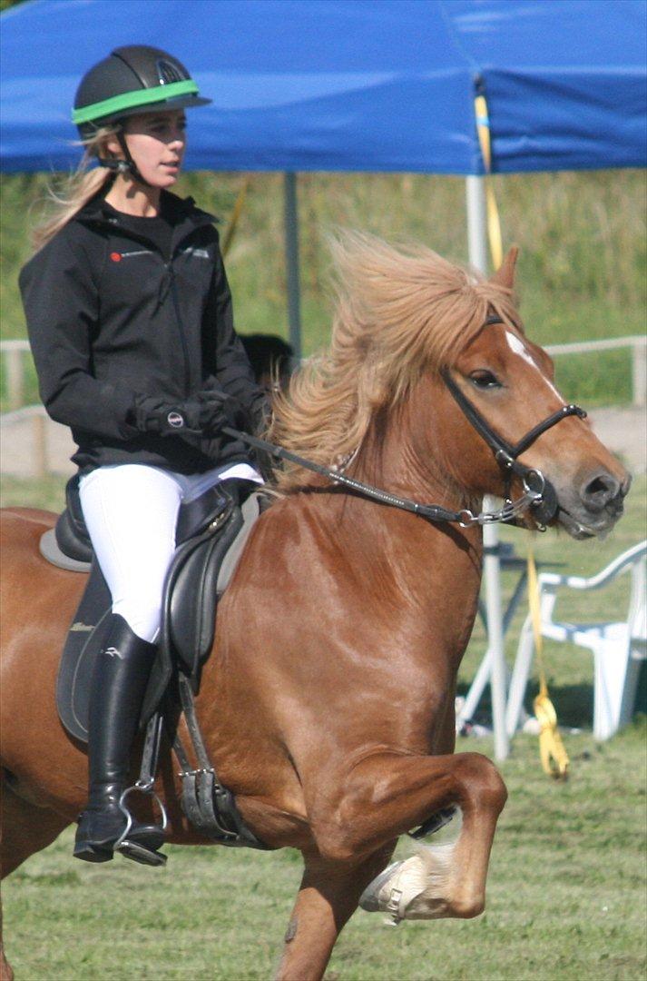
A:
{"label": "white tent pole behind the horse's head", "polygon": [[[468,209],[468,246],[470,263],[482,273],[487,272],[487,245],[485,220],[485,187],[483,178],[470,176],[466,181]],[[486,509],[492,507],[487,498]],[[494,756],[505,759],[510,752],[506,732],[507,669],[503,645],[503,615],[501,611],[501,563],[499,560],[499,532],[496,525],[483,526],[483,575],[485,579],[485,609],[487,612],[487,653],[490,664],[490,688],[492,692],[492,728],[494,730]]]}

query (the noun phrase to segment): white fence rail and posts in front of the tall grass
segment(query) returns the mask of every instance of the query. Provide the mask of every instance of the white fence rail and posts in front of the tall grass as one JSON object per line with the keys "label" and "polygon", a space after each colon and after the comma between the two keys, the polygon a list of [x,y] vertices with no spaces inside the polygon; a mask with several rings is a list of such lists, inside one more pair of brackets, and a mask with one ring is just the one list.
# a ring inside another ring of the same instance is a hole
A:
{"label": "white fence rail and posts in front of the tall grass", "polygon": [[[647,401],[647,337],[609,337],[606,340],[581,340],[570,344],[550,344],[546,347],[553,357],[563,354],[588,354],[595,351],[612,351],[631,348],[631,401],[633,405],[645,405]],[[0,340],[0,356],[6,362],[7,401],[10,409],[20,409],[25,404],[25,353],[29,352],[28,340]]]}

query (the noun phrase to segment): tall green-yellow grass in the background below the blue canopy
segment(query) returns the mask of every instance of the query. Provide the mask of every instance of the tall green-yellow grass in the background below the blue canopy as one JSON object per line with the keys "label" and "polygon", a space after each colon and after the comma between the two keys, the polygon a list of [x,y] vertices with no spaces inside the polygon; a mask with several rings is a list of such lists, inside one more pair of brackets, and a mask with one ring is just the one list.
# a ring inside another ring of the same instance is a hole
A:
{"label": "tall green-yellow grass in the background below the blue canopy", "polygon": [[[187,174],[178,186],[226,226],[243,181],[238,174]],[[4,176],[0,336],[25,336],[18,272],[29,227],[46,196],[45,175]],[[521,246],[519,287],[528,334],[540,343],[638,334],[645,327],[643,172],[512,175],[495,179],[507,244]],[[465,182],[426,175],[299,176],[304,352],[326,340],[330,306],[325,232],[362,229],[417,239],[467,262]],[[238,330],[287,336],[282,177],[252,175],[227,256]],[[605,352],[560,360],[558,382],[572,398],[628,400],[629,355]],[[31,377],[29,399],[35,399]]]}

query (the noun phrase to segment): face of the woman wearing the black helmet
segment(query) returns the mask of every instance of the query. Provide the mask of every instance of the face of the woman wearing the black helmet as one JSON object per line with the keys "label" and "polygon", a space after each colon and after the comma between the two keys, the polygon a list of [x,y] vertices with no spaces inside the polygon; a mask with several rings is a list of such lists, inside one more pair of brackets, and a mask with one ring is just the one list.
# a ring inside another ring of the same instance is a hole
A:
{"label": "face of the woman wearing the black helmet", "polygon": [[124,135],[142,178],[153,187],[171,187],[186,148],[184,113],[174,109],[130,116],[124,121]]}

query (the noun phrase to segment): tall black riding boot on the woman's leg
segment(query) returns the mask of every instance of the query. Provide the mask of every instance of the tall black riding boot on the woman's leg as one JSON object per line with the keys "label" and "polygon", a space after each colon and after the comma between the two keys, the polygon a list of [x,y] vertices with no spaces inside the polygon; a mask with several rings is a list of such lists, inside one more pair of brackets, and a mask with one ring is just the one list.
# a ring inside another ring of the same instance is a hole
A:
{"label": "tall black riding boot on the woman's leg", "polygon": [[[127,784],[130,749],[155,651],[155,645],[132,633],[124,617],[111,616],[90,693],[89,794],[75,840],[75,857],[84,861],[109,861],[124,833],[126,818],[119,801]],[[164,842],[164,832],[157,825],[133,819],[127,841],[135,846],[130,851],[124,848],[128,857],[145,863],[148,859],[149,864],[164,861],[156,854]]]}

